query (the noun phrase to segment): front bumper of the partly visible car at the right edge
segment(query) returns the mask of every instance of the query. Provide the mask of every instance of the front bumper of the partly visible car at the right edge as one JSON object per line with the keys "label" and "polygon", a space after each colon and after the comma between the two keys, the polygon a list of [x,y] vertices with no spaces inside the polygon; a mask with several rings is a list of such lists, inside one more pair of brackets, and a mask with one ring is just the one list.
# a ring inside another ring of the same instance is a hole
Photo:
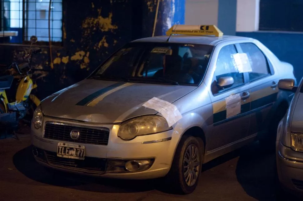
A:
{"label": "front bumper of the partly visible car at the right edge", "polygon": [[288,190],[303,193],[303,153],[293,151],[277,141],[276,158],[281,185]]}

